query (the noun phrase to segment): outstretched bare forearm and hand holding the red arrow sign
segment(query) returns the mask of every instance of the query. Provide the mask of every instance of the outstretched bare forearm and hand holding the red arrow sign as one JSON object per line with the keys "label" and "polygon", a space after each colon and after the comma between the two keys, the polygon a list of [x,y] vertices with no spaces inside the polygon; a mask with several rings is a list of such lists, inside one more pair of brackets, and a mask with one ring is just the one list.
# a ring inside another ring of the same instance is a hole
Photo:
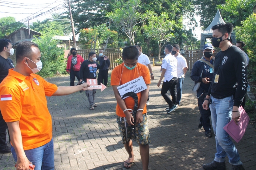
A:
{"label": "outstretched bare forearm and hand holding the red arrow sign", "polygon": [[78,92],[80,90],[85,91],[85,90],[90,90],[87,87],[90,85],[87,83],[83,83],[79,86],[59,86],[57,91],[53,93],[52,96],[64,96],[64,95],[70,95],[72,93]]}

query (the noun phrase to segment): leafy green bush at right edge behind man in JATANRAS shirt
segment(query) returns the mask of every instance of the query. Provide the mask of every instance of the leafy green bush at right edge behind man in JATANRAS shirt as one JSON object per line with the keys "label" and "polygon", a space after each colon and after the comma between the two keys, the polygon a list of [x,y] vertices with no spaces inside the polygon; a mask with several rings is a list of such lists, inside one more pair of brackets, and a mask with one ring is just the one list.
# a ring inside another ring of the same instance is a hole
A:
{"label": "leafy green bush at right edge behind man in JATANRAS shirt", "polygon": [[248,78],[250,81],[256,81],[256,14],[250,15],[242,21],[243,27],[235,27],[237,40],[244,41],[246,46],[245,52],[250,58],[247,68]]}

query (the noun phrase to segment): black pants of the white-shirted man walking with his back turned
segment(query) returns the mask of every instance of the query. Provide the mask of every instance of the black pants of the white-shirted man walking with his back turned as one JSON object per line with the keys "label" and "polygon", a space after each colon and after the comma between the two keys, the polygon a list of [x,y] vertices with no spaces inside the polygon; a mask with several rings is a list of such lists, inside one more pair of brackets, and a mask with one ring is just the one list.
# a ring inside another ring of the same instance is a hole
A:
{"label": "black pants of the white-shirted man walking with his back turned", "polygon": [[[161,95],[163,96],[165,101],[168,103],[170,108],[174,106],[177,100],[177,89],[176,89],[177,83],[178,83],[178,78],[174,77],[170,81],[166,80],[166,82],[163,82],[163,85],[162,85]],[[172,100],[167,93],[168,90],[171,90],[170,92],[171,92]]]}

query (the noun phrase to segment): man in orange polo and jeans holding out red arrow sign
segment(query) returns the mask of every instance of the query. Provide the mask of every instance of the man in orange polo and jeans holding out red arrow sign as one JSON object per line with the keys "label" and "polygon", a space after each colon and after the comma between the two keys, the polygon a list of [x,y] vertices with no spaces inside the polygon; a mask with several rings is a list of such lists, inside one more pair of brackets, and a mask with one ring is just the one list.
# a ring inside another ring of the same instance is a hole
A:
{"label": "man in orange polo and jeans holding out red arrow sign", "polygon": [[52,120],[45,96],[69,95],[88,90],[87,84],[57,87],[36,73],[42,69],[37,44],[22,41],[16,49],[16,67],[0,84],[0,109],[7,122],[17,170],[54,169]]}

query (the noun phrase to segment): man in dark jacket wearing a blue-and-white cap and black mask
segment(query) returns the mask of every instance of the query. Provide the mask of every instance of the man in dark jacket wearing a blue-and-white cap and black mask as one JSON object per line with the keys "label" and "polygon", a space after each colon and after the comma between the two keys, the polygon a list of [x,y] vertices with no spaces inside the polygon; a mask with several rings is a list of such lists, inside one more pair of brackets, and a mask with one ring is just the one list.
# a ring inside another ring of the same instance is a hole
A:
{"label": "man in dark jacket wearing a blue-and-white cap and black mask", "polygon": [[203,126],[205,130],[205,136],[211,137],[211,111],[210,109],[205,110],[203,108],[203,102],[210,88],[211,81],[213,80],[213,45],[210,43],[205,44],[203,53],[204,56],[195,62],[190,77],[193,81],[195,81],[193,91],[196,92],[196,97],[198,98],[198,107],[201,114],[198,128],[201,129]]}

